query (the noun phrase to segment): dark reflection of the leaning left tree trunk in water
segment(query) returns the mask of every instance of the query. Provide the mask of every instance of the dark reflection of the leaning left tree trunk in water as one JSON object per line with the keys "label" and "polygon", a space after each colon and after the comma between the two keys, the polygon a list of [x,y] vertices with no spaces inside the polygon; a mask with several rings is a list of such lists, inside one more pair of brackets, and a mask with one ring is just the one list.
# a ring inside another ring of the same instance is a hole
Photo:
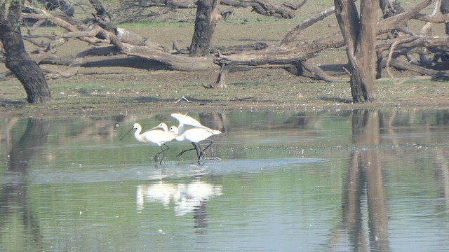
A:
{"label": "dark reflection of the leaning left tree trunk in water", "polygon": [[[32,159],[39,155],[39,147],[46,144],[50,127],[51,120],[39,118],[27,120],[27,127],[22,137],[18,141],[12,139],[7,169],[9,181],[0,190],[0,216],[2,216],[0,225],[6,225],[9,217],[13,218],[15,214],[19,214],[24,228],[22,234],[27,234],[26,242],[39,248],[39,251],[46,249],[41,246],[39,218],[27,197],[27,169]],[[4,235],[4,232],[0,232],[0,235]]]}

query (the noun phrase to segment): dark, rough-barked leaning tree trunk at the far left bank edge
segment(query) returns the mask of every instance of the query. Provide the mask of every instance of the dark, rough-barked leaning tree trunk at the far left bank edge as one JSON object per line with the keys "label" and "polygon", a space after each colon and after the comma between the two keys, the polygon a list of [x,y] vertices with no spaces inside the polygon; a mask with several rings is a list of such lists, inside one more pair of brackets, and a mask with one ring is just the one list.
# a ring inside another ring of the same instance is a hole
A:
{"label": "dark, rough-barked leaning tree trunk at the far left bank edge", "polygon": [[27,92],[27,102],[51,100],[50,89],[39,65],[25,51],[20,32],[20,11],[23,1],[11,1],[8,9],[0,5],[0,41],[4,45],[5,65],[20,80]]}

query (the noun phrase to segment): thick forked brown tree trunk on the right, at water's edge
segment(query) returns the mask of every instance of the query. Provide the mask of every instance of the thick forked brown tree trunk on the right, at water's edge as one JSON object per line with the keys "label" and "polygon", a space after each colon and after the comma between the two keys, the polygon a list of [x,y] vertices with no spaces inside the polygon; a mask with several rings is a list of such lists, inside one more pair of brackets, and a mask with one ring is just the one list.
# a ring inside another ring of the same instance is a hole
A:
{"label": "thick forked brown tree trunk on the right, at water's edge", "polygon": [[335,0],[335,15],[347,45],[351,94],[353,102],[374,102],[375,88],[375,43],[377,2],[360,1],[361,15],[354,0]]}

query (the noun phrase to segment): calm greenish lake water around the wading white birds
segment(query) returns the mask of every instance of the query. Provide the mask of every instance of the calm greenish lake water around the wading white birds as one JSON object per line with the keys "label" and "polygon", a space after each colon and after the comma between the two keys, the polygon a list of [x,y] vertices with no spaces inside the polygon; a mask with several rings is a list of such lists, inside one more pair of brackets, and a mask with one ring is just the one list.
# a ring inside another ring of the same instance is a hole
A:
{"label": "calm greenish lake water around the wading white birds", "polygon": [[128,135],[170,115],[0,118],[0,251],[447,251],[449,111],[190,113],[221,130]]}

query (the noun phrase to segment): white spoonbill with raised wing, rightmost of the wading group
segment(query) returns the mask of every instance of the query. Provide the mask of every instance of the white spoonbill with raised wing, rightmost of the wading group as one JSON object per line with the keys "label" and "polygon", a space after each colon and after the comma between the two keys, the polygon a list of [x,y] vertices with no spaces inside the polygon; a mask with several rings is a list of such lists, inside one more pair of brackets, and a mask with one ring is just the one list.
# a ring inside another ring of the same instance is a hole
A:
{"label": "white spoonbill with raised wing, rightmost of the wading group", "polygon": [[[203,126],[201,125],[201,123],[199,123],[199,121],[191,118],[190,116],[185,116],[177,113],[173,113],[171,114],[171,116],[173,116],[173,118],[176,118],[176,120],[180,122],[180,125],[178,127],[170,127],[170,132],[178,135],[175,139],[177,141],[189,141],[194,146],[194,148],[181,151],[176,156],[176,158],[180,157],[186,151],[195,150],[196,155],[198,155],[199,162],[201,158],[204,158],[204,151],[206,151],[206,149],[213,144],[213,141],[208,138],[215,134],[221,134],[222,132],[220,132],[219,130],[212,130],[206,126]],[[199,145],[200,141],[208,141],[209,144],[208,146],[206,146],[206,148],[201,148],[201,146]]]}

